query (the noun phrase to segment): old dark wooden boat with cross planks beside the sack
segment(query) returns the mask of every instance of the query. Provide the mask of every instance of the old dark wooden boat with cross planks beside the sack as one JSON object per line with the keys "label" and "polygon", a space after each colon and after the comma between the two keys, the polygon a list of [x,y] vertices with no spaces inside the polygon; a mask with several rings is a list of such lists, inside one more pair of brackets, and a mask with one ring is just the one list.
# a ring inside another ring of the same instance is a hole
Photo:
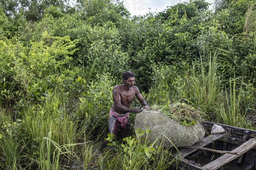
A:
{"label": "old dark wooden boat with cross planks beside the sack", "polygon": [[[220,125],[226,132],[211,134],[214,124]],[[202,125],[207,134],[205,138],[174,154],[180,160],[179,170],[256,170],[256,130],[212,122],[202,122]],[[221,153],[223,151],[227,153]]]}

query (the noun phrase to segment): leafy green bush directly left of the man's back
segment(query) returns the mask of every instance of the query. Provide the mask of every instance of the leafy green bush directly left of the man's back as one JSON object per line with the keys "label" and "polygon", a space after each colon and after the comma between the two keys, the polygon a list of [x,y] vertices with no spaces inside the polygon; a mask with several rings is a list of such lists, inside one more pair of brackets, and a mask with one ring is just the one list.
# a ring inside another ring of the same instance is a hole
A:
{"label": "leafy green bush directly left of the man's back", "polygon": [[[79,79],[84,82],[84,79]],[[86,84],[86,91],[79,98],[77,114],[82,119],[86,133],[99,133],[108,127],[108,113],[113,103],[112,88],[116,80],[108,73],[96,74],[95,80]]]}

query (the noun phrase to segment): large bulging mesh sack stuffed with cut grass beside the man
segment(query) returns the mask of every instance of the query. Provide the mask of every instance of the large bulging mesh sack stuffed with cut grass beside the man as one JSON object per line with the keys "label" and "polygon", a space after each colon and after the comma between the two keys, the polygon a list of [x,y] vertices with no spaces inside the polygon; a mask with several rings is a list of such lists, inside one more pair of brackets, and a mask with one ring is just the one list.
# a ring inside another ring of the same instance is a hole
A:
{"label": "large bulging mesh sack stuffed with cut grass beside the man", "polygon": [[162,143],[163,146],[191,146],[204,139],[205,135],[204,127],[199,122],[190,126],[180,125],[159,111],[143,110],[138,113],[135,118],[135,130],[138,128],[143,131],[148,128],[151,131],[141,137],[145,138],[148,144],[158,138],[157,143]]}

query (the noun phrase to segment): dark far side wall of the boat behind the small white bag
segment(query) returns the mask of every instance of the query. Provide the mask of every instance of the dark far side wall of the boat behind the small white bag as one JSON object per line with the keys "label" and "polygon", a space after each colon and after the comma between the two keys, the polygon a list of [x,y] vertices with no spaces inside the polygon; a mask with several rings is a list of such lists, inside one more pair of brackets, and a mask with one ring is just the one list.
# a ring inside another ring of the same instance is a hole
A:
{"label": "dark far side wall of the boat behind the small white bag", "polygon": [[[205,125],[204,125],[204,124],[205,124]],[[219,123],[202,122],[202,125],[203,125],[204,127],[206,127],[206,129],[207,129],[209,132],[211,131],[212,126],[213,126],[214,124],[220,125],[220,126],[223,127],[224,129],[226,129],[227,127],[228,127],[228,128],[231,128],[233,134],[240,135],[240,136],[243,136],[244,131],[245,131],[245,130],[248,130],[248,129],[244,129],[244,128],[240,128],[240,127],[234,127],[234,126],[229,126],[229,125],[222,125],[222,124],[219,124]],[[256,137],[256,130],[249,130],[249,132],[250,132],[250,135],[249,135],[250,138],[255,138],[255,137]]]}

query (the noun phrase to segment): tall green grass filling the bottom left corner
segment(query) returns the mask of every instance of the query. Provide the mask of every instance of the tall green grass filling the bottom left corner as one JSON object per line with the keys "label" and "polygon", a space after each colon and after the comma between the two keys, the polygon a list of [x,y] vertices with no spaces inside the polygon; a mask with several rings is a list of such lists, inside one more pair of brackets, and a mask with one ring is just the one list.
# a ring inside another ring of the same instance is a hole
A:
{"label": "tall green grass filling the bottom left corner", "polygon": [[[57,92],[50,94],[49,98],[40,105],[26,107],[26,110],[22,112],[21,120],[17,119],[13,122],[11,117],[5,115],[8,113],[1,112],[0,116],[3,119],[0,123],[5,127],[2,126],[0,130],[0,134],[3,135],[3,139],[0,139],[0,150],[2,151],[1,157],[4,159],[0,165],[6,170],[11,167],[12,169],[42,168],[44,160],[41,153],[44,152],[55,153],[57,156],[50,155],[47,160],[55,157],[55,160],[60,160],[60,162],[70,161],[67,157],[73,157],[77,136],[84,134],[77,133],[78,122],[66,113],[65,95],[58,95]],[[50,139],[46,139],[49,133],[51,133]],[[44,147],[45,140],[52,143],[55,148],[49,148],[49,144],[47,144],[48,147]],[[62,159],[63,156],[67,156],[66,159]],[[58,161],[55,161],[55,168],[58,164]]]}

